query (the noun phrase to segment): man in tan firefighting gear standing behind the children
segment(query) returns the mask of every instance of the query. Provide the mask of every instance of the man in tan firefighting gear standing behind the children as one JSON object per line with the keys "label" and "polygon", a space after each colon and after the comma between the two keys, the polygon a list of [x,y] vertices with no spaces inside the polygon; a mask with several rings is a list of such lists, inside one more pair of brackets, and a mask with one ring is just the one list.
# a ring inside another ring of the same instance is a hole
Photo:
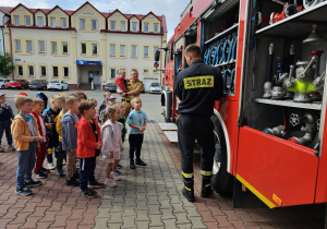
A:
{"label": "man in tan firefighting gear standing behind the children", "polygon": [[126,81],[126,89],[129,93],[122,93],[122,103],[125,106],[124,117],[128,118],[131,111],[131,100],[133,97],[140,97],[144,88],[144,84],[142,81],[138,81],[138,72],[137,70],[132,70],[131,80]]}

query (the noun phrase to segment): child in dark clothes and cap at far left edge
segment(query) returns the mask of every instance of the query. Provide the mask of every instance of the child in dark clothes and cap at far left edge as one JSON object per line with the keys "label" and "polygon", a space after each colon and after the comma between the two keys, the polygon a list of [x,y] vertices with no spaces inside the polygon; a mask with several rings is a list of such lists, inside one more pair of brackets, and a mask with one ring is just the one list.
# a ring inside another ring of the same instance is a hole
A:
{"label": "child in dark clothes and cap at far left edge", "polygon": [[[14,118],[12,109],[9,105],[5,104],[5,94],[0,93],[0,143],[2,140],[3,132],[5,132],[8,152],[15,150],[12,146],[12,136],[10,132],[11,120]],[[0,147],[0,153],[3,153],[4,148]]]}

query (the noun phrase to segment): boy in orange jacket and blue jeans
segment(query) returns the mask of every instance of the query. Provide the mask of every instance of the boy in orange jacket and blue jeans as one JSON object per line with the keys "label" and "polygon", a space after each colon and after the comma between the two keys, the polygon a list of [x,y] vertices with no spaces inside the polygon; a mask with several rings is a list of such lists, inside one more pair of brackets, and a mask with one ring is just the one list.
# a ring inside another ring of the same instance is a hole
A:
{"label": "boy in orange jacket and blue jeans", "polygon": [[19,109],[19,114],[15,116],[11,125],[11,133],[19,153],[15,194],[23,196],[32,194],[32,190],[28,188],[41,184],[40,181],[32,178],[32,170],[35,166],[35,149],[38,142],[44,141],[38,132],[36,119],[29,114],[32,103],[33,99],[27,96],[15,98],[14,104]]}

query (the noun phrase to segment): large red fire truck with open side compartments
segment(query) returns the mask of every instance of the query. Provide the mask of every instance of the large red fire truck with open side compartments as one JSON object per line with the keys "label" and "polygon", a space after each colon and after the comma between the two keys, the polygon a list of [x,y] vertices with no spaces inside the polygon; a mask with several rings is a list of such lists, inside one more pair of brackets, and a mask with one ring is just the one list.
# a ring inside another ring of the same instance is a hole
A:
{"label": "large red fire truck with open side compartments", "polygon": [[270,208],[327,202],[326,38],[324,0],[193,0],[161,51],[167,122],[187,45],[221,71],[213,188],[234,207],[250,195]]}

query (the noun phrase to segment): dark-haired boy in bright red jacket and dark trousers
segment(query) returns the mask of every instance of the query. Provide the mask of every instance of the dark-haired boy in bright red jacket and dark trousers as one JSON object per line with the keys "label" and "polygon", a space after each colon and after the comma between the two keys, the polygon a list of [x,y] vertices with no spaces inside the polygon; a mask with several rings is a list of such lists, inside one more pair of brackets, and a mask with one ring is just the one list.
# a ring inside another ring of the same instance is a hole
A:
{"label": "dark-haired boy in bright red jacket and dark trousers", "polygon": [[95,197],[97,192],[89,188],[105,186],[104,183],[97,182],[94,176],[96,157],[99,156],[102,145],[100,128],[93,118],[96,114],[96,108],[92,100],[82,100],[77,110],[83,116],[75,125],[77,129],[77,158],[80,158],[81,169],[80,186],[83,195]]}

